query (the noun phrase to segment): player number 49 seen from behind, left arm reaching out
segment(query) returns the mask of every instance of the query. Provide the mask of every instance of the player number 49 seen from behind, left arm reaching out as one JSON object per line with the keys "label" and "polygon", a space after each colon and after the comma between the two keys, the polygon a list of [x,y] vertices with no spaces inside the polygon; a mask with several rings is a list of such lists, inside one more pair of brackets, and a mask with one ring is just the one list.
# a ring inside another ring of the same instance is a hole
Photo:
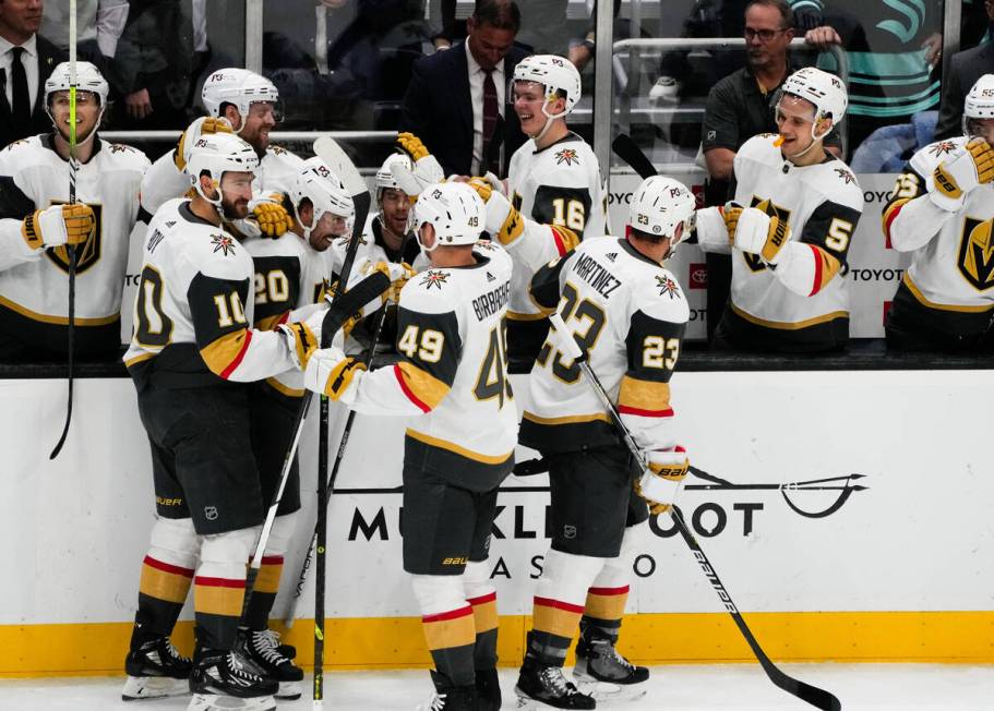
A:
{"label": "player number 49 seen from behind, left arm reaching out", "polygon": [[427,188],[414,224],[431,266],[400,292],[400,362],[364,372],[342,350],[321,350],[304,384],[359,412],[423,415],[405,439],[404,569],[435,663],[431,709],[495,710],[496,593],[487,552],[517,435],[502,326],[511,260],[477,241],[483,204],[466,184]]}

